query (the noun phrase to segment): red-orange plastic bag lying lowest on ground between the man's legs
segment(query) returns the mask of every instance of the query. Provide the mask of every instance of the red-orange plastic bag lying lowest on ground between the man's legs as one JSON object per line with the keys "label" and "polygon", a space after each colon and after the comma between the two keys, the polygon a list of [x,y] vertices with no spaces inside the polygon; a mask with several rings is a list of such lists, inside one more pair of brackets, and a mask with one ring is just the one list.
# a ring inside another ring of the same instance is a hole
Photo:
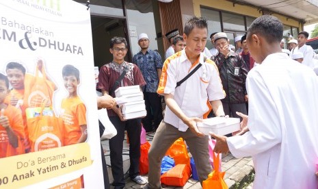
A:
{"label": "red-orange plastic bag lying lowest on ground between the man's legs", "polygon": [[187,164],[178,164],[161,175],[161,183],[169,186],[185,186],[191,175]]}

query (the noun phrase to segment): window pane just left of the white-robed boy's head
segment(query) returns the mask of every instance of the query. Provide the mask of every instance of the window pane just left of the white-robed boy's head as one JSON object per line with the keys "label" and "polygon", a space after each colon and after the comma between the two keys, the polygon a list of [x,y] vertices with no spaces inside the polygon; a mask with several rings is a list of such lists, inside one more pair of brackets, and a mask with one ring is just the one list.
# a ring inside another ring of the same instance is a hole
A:
{"label": "window pane just left of the white-robed boy's head", "polygon": [[224,29],[245,31],[244,17],[237,14],[222,12],[222,21]]}

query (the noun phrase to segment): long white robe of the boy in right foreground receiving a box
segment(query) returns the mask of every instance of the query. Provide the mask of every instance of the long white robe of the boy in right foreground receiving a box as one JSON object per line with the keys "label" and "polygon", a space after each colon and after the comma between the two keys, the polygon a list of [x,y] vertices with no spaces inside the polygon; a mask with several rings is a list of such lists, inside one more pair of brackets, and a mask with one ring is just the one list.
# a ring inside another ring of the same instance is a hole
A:
{"label": "long white robe of the boy in right foreground receiving a box", "polygon": [[268,55],[246,79],[243,136],[227,138],[235,157],[252,156],[254,188],[318,188],[318,77],[285,53]]}

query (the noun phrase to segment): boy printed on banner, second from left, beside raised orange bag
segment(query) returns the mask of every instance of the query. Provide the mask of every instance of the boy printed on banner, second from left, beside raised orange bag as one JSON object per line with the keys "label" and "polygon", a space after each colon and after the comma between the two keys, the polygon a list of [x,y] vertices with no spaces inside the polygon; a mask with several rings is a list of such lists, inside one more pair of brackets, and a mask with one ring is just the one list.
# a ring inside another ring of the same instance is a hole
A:
{"label": "boy printed on banner, second from left, beside raised orange bag", "polygon": [[25,107],[23,106],[23,97],[25,93],[25,80],[29,79],[31,76],[29,74],[25,74],[25,67],[17,62],[8,63],[5,68],[5,72],[7,73],[9,83],[12,86],[12,90],[7,97],[5,97],[5,103],[15,106],[21,110],[23,129],[25,132],[25,138],[22,138],[22,140],[25,147],[25,153],[29,153],[31,147],[29,144],[27,117],[25,114]]}

